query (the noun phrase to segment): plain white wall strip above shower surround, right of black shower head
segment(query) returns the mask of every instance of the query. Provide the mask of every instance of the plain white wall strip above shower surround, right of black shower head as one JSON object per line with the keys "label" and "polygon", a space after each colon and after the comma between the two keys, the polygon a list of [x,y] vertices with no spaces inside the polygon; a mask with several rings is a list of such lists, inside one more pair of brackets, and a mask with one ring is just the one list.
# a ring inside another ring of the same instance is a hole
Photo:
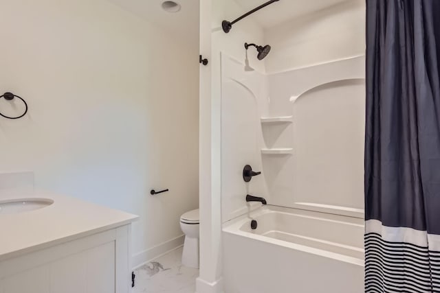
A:
{"label": "plain white wall strip above shower surround, right of black shower head", "polygon": [[365,52],[365,1],[345,1],[265,30],[272,45],[267,73],[307,67]]}

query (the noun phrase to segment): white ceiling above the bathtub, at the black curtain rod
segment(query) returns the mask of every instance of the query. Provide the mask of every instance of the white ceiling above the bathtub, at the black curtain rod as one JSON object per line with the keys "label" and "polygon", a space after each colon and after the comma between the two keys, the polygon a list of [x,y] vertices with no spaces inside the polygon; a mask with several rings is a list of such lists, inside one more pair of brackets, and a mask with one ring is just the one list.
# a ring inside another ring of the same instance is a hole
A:
{"label": "white ceiling above the bathtub, at the black curtain rod", "polygon": [[[235,0],[243,11],[248,12],[267,0]],[[280,0],[252,14],[261,27],[268,28],[311,12],[329,8],[351,0]],[[239,15],[237,15],[238,17]]]}

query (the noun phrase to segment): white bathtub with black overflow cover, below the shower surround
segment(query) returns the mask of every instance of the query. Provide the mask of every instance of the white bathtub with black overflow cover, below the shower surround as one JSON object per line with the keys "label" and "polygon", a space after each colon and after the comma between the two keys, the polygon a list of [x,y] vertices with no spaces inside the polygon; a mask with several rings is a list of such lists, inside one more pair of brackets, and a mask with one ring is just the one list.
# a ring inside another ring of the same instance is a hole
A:
{"label": "white bathtub with black overflow cover, below the shower surround", "polygon": [[223,226],[223,250],[225,293],[364,292],[362,218],[266,206]]}

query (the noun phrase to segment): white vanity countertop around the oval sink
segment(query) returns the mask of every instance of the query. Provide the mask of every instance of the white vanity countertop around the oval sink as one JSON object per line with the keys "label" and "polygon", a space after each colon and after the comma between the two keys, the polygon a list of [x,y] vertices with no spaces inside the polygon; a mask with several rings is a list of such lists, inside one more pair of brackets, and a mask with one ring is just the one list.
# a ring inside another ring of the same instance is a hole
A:
{"label": "white vanity countertop around the oval sink", "polygon": [[54,203],[34,211],[0,214],[0,261],[124,226],[138,218],[50,191],[0,194],[1,201],[17,198],[48,198]]}

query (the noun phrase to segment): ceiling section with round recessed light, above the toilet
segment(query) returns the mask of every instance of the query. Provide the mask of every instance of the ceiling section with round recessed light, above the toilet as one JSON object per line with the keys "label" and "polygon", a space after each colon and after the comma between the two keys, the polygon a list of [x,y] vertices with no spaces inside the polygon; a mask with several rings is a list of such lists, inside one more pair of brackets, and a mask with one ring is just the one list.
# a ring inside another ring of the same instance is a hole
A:
{"label": "ceiling section with round recessed light, above the toilet", "polygon": [[164,0],[108,0],[191,43],[199,43],[199,0],[174,0],[179,12],[162,9]]}

